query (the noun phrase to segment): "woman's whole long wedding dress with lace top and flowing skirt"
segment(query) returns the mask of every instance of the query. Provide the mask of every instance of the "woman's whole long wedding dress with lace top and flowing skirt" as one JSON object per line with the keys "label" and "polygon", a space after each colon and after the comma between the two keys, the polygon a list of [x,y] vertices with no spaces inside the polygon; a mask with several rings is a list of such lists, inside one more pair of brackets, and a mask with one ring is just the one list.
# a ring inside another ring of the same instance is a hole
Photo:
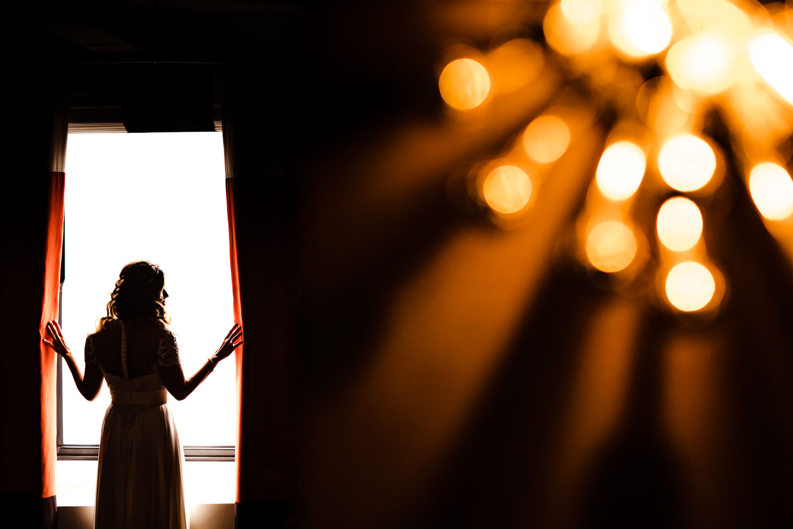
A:
{"label": "woman's whole long wedding dress with lace top and flowing skirt", "polygon": [[98,364],[112,398],[99,444],[94,528],[186,529],[182,445],[159,376],[159,367],[179,363],[176,339],[162,325],[136,333],[136,372],[128,369],[128,327],[109,322],[86,338],[86,364]]}

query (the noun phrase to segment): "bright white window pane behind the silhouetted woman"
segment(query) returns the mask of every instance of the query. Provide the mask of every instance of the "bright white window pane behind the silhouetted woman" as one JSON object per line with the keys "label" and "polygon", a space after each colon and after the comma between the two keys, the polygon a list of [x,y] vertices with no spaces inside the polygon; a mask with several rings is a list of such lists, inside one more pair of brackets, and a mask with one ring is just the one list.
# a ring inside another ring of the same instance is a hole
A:
{"label": "bright white window pane behind the silhouetted woman", "polygon": [[[234,322],[223,139],[219,132],[69,135],[63,332],[82,360],[86,334],[129,261],[157,263],[182,367],[192,375]],[[236,437],[233,356],[182,402],[169,397],[186,445]],[[63,442],[98,444],[110,397],[94,402],[63,372]]]}

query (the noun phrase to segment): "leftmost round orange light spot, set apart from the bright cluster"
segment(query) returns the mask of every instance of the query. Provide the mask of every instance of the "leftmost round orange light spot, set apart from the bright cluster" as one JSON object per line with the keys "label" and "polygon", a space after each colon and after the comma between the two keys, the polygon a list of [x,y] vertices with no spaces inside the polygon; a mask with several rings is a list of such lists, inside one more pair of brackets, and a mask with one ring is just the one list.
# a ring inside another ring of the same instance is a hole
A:
{"label": "leftmost round orange light spot, set apart from the bright cluster", "polygon": [[476,108],[490,92],[490,77],[473,59],[457,59],[447,64],[438,80],[441,97],[458,110]]}

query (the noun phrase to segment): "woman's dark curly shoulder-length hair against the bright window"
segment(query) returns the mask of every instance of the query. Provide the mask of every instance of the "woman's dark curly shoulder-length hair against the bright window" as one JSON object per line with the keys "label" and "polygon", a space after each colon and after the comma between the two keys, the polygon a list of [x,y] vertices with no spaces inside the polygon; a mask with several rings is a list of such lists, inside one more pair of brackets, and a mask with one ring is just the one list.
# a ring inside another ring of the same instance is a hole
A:
{"label": "woman's dark curly shoulder-length hair against the bright window", "polygon": [[[132,261],[118,275],[116,287],[107,303],[107,316],[98,319],[97,331],[114,320],[143,320],[170,323],[164,299],[159,293],[165,286],[165,274],[149,261]],[[167,297],[167,294],[165,294]]]}

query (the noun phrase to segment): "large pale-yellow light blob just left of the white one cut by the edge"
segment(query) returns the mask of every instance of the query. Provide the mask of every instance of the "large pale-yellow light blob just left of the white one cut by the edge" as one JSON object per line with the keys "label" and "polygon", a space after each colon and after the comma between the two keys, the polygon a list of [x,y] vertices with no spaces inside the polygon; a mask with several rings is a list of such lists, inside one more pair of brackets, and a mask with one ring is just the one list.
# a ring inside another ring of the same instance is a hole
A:
{"label": "large pale-yellow light blob just left of the white one cut by the edge", "polygon": [[703,32],[680,40],[666,54],[666,69],[682,88],[718,93],[734,78],[734,51],[724,36]]}

